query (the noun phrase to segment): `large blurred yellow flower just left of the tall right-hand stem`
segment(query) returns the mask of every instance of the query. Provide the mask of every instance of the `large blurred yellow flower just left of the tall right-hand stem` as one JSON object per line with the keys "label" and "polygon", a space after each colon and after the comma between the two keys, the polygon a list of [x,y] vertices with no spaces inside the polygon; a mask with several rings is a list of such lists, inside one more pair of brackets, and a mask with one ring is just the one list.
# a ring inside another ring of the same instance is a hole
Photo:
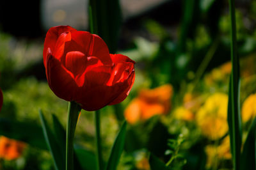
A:
{"label": "large blurred yellow flower just left of the tall right-hand stem", "polygon": [[227,107],[228,96],[224,93],[215,93],[207,98],[196,113],[196,123],[203,135],[216,140],[227,133]]}

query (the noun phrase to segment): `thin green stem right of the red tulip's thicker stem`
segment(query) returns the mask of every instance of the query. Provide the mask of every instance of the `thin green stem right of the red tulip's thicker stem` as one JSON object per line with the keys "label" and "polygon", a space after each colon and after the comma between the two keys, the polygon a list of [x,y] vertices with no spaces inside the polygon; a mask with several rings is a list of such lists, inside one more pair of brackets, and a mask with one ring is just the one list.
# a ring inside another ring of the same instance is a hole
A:
{"label": "thin green stem right of the red tulip's thicker stem", "polygon": [[98,170],[103,169],[101,139],[100,139],[100,111],[95,111],[95,131],[96,131],[96,144],[97,144],[97,167]]}

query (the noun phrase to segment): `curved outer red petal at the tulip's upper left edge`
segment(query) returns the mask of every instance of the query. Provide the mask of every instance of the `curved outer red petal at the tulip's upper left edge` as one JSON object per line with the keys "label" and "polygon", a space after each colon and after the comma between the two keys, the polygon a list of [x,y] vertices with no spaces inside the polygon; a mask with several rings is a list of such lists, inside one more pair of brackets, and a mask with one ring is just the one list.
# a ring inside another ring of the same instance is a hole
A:
{"label": "curved outer red petal at the tulip's upper left edge", "polygon": [[59,36],[62,33],[73,32],[73,31],[76,31],[76,29],[74,29],[70,26],[51,27],[49,29],[49,31],[47,31],[47,34],[45,37],[45,42],[44,42],[44,52],[43,52],[44,65],[45,65],[45,61],[46,61],[45,59],[46,59],[47,49],[50,48],[53,51]]}

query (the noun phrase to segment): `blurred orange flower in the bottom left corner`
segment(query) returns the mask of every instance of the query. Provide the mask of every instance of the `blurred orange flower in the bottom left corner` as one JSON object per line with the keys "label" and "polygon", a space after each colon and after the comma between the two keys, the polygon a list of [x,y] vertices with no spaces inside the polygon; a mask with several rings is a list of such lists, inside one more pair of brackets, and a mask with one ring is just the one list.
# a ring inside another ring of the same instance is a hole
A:
{"label": "blurred orange flower in the bottom left corner", "polygon": [[19,158],[26,147],[25,143],[7,137],[0,137],[0,158],[13,160]]}

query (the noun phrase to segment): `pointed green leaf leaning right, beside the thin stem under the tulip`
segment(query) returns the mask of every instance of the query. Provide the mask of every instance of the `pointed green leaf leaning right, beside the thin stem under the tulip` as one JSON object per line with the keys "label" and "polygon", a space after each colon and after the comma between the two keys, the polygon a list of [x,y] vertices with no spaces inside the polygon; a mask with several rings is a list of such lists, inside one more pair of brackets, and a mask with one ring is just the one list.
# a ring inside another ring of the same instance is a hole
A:
{"label": "pointed green leaf leaning right, beside the thin stem under the tulip", "polygon": [[127,123],[126,121],[124,121],[120,129],[120,132],[118,133],[115,139],[115,143],[112,146],[106,170],[114,170],[118,165],[119,159],[124,149],[126,126],[127,126]]}

